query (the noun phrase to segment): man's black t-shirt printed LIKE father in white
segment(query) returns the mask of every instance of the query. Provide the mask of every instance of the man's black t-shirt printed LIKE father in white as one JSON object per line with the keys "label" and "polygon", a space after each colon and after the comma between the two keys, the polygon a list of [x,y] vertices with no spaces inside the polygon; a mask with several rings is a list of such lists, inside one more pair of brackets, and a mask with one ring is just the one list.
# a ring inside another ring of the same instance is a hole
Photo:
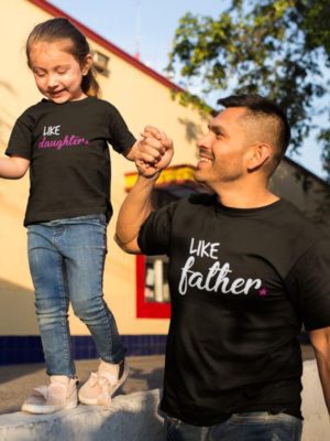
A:
{"label": "man's black t-shirt printed LIKE father in white", "polygon": [[211,426],[244,411],[300,417],[298,334],[330,325],[330,246],[292,204],[228,208],[191,196],[139,236],[169,257],[172,319],[162,409]]}

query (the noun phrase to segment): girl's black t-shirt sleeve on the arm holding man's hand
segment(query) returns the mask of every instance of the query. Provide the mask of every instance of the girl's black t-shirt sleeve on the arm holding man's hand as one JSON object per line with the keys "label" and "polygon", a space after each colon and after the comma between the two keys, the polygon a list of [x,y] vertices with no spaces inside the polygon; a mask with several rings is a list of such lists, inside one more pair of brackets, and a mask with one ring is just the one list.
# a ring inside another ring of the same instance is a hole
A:
{"label": "girl's black t-shirt sleeve on the arm holding man's hand", "polygon": [[111,106],[110,112],[110,135],[108,141],[117,152],[123,154],[128,153],[136,141],[123,117],[113,106]]}

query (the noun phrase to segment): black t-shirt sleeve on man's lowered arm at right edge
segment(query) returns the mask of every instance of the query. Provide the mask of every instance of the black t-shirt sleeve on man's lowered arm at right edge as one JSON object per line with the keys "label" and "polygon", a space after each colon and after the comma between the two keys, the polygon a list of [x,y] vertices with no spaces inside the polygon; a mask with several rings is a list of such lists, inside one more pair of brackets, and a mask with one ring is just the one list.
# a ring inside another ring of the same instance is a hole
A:
{"label": "black t-shirt sleeve on man's lowered arm at right edge", "polygon": [[286,278],[307,331],[330,326],[330,240],[308,248]]}

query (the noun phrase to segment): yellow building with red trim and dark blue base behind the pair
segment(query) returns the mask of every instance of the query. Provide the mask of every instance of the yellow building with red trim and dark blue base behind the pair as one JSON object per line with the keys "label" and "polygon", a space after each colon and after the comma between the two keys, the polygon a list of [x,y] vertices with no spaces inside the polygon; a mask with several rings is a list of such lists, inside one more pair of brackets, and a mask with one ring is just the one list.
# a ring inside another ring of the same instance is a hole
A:
{"label": "yellow building with red trim and dark blue base behind the pair", "polygon": [[[6,150],[15,119],[42,98],[28,68],[24,45],[32,28],[53,17],[67,14],[43,0],[1,3],[0,154]],[[178,87],[166,77],[72,20],[87,35],[94,51],[102,98],[118,107],[130,130],[139,137],[145,125],[153,125],[175,140],[173,165],[157,184],[155,204],[201,191],[194,183],[193,165],[197,158],[196,138],[206,130],[207,119],[193,107],[183,107],[173,99],[173,90]],[[129,256],[114,244],[116,216],[132,185],[134,165],[114,151],[111,162],[114,215],[108,228],[105,299],[129,354],[163,353],[170,314],[166,260]],[[305,185],[301,179],[306,180]],[[329,193],[323,181],[289,160],[280,165],[273,186],[308,215],[315,215],[323,206],[322,194]],[[42,361],[23,227],[28,195],[29,175],[18,181],[1,180],[0,364]],[[322,216],[329,218],[327,213]],[[70,330],[76,358],[96,357],[88,330],[72,312]]]}

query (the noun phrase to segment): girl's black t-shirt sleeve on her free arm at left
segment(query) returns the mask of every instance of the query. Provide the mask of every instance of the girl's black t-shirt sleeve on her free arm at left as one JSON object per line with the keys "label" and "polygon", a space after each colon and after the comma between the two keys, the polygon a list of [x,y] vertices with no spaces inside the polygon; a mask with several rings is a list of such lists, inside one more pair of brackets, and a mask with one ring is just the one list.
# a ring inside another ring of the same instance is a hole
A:
{"label": "girl's black t-shirt sleeve on her free arm at left", "polygon": [[33,121],[25,111],[14,123],[6,154],[31,160],[33,144]]}

